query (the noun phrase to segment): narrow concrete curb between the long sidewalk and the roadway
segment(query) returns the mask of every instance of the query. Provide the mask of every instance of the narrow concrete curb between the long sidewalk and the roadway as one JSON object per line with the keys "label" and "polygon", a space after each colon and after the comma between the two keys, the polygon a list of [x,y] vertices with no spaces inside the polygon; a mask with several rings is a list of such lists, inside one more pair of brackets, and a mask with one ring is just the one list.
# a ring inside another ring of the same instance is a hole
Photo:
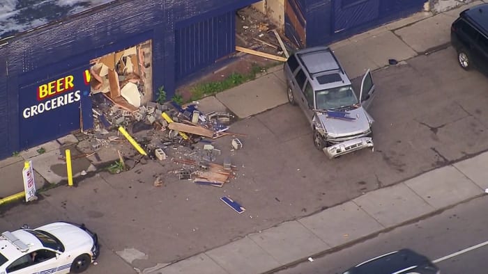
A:
{"label": "narrow concrete curb between the long sidewalk and the roadway", "polygon": [[[360,237],[358,239],[355,239],[353,241],[349,241],[347,243],[343,243],[342,245],[337,245],[337,246],[335,246],[333,248],[329,248],[328,250],[323,250],[321,252],[317,252],[315,254],[312,254],[310,256],[307,256],[307,257],[304,257],[304,258],[301,258],[301,259],[297,259],[296,261],[292,261],[291,263],[285,264],[283,266],[279,266],[277,268],[270,269],[269,271],[263,272],[261,274],[272,274],[272,273],[276,273],[277,271],[282,271],[282,270],[285,270],[287,268],[291,268],[293,266],[297,266],[298,264],[302,264],[302,263],[304,263],[306,261],[309,261],[308,258],[323,257],[323,256],[328,255],[330,253],[343,250],[344,248],[349,248],[349,247],[351,247],[351,246],[353,246],[353,245],[355,245],[357,243],[362,243],[362,242],[367,241],[369,239],[373,239],[374,237],[378,236],[381,233],[390,232],[393,229],[396,229],[398,227],[403,227],[405,225],[411,225],[413,223],[417,223],[420,220],[424,220],[425,218],[439,215],[440,213],[443,213],[446,210],[452,209],[452,208],[456,207],[459,204],[464,204],[466,202],[471,202],[472,200],[475,200],[475,199],[478,199],[478,198],[482,198],[485,195],[487,195],[487,193],[480,193],[479,195],[473,196],[471,198],[467,198],[465,200],[462,200],[460,202],[457,202],[456,204],[450,204],[447,207],[443,207],[441,209],[436,209],[434,211],[430,211],[429,213],[422,214],[421,216],[412,218],[410,220],[405,220],[404,222],[399,223],[397,225],[393,225],[392,227],[385,227],[384,229],[380,229],[380,230],[378,230],[376,232],[367,234],[366,236],[362,236],[362,237]],[[297,220],[300,220],[300,219],[297,219]]]}

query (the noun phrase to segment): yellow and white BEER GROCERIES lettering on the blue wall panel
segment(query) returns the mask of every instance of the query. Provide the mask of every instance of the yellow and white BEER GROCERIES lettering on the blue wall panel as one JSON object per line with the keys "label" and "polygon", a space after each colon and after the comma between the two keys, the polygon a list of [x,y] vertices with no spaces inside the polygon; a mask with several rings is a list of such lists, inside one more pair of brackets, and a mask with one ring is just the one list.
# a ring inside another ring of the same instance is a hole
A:
{"label": "yellow and white BEER GROCERIES lettering on the blue wall panel", "polygon": [[42,83],[37,88],[37,104],[33,104],[22,110],[24,119],[40,115],[55,108],[61,108],[75,102],[82,97],[81,90],[77,90],[75,77],[82,77],[85,85],[90,83],[90,71],[84,70],[80,75],[66,75],[54,81]]}

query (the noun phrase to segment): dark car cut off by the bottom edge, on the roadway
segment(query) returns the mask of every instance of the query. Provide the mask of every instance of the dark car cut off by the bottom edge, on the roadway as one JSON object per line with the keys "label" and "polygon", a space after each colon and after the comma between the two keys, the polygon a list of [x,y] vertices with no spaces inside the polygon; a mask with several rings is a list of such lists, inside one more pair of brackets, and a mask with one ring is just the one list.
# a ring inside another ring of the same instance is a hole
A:
{"label": "dark car cut off by the bottom edge, on the roadway", "polygon": [[390,252],[363,261],[344,274],[440,274],[427,257],[409,249]]}

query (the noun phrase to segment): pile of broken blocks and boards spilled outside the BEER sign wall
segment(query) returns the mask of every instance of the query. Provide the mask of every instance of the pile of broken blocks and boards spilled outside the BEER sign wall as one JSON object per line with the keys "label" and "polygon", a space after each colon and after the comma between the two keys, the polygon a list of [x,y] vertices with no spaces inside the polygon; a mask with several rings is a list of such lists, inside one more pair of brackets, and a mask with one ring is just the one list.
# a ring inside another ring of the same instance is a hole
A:
{"label": "pile of broken blocks and boards spilled outside the BEER sign wall", "polygon": [[[235,119],[231,113],[202,113],[197,102],[185,106],[174,102],[149,102],[140,106],[138,111],[131,112],[104,100],[96,100],[96,108],[93,109],[96,123],[93,131],[86,132],[90,154],[112,142],[125,143],[119,132],[122,127],[124,131],[128,129],[130,136],[146,153],[138,154],[132,147],[126,153],[119,153],[123,170],[130,170],[147,159],[171,159],[171,163],[182,167],[170,173],[178,179],[193,180],[195,184],[222,187],[236,176],[236,167],[231,164],[229,156],[222,155],[215,145],[215,139],[233,136],[229,143],[231,151],[243,147],[238,137],[245,135],[229,132],[229,124]],[[154,185],[162,185],[161,177]]]}

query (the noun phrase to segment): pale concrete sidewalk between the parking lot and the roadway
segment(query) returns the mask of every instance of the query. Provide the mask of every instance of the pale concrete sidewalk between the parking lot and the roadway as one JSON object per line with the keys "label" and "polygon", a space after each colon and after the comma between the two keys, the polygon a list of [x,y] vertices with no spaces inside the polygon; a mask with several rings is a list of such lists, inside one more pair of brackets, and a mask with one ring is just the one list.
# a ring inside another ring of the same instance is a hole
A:
{"label": "pale concrete sidewalk between the parking lot and the roadway", "polygon": [[151,273],[273,273],[483,195],[488,188],[488,170],[482,166],[487,161],[488,152],[247,235]]}

